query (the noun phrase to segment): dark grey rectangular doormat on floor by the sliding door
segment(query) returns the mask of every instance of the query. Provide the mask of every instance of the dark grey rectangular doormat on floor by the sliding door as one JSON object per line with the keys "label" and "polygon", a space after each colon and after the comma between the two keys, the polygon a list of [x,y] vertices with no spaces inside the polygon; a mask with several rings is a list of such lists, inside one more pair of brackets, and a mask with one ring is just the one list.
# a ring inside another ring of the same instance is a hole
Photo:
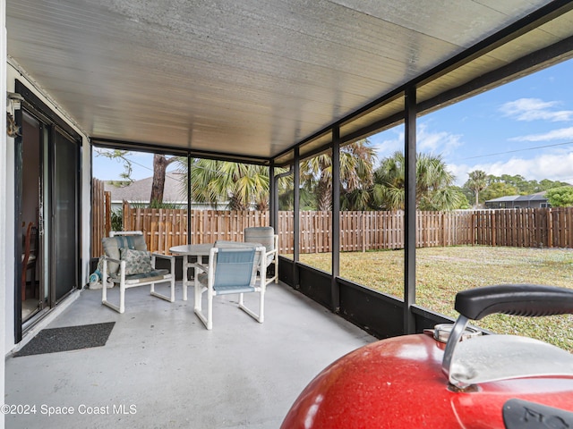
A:
{"label": "dark grey rectangular doormat on floor by the sliding door", "polygon": [[14,356],[40,355],[105,346],[115,322],[43,329]]}

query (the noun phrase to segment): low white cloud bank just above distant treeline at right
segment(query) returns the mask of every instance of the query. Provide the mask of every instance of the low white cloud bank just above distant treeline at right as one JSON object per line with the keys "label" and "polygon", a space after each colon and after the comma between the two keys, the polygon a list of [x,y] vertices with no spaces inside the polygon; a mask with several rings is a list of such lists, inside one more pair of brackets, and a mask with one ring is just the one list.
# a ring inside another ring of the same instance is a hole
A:
{"label": "low white cloud bank just above distant treeline at right", "polygon": [[531,159],[511,158],[490,164],[449,164],[449,169],[456,175],[458,186],[467,181],[467,173],[482,170],[487,174],[520,174],[527,181],[567,181],[573,183],[573,150],[567,149],[552,154],[543,154]]}

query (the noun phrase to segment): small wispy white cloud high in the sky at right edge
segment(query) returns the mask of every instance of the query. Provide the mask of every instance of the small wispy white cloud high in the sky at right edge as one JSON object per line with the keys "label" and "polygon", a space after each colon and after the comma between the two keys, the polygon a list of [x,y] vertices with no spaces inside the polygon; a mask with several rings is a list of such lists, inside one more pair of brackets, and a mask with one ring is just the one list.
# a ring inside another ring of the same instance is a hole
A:
{"label": "small wispy white cloud high in the sky at right edge", "polygon": [[552,110],[558,101],[543,101],[539,98],[519,98],[501,105],[500,112],[517,121],[571,121],[573,110]]}

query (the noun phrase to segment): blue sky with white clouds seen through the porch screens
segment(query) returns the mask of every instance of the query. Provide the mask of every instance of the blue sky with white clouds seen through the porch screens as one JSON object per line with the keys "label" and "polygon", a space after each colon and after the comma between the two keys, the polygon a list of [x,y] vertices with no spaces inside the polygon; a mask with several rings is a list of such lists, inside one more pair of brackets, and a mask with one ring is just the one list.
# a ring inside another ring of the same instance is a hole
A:
{"label": "blue sky with white clouds seen through the porch screens", "polygon": [[[418,118],[418,152],[441,155],[463,185],[467,173],[520,174],[573,184],[573,60]],[[403,150],[404,127],[370,138],[378,156]],[[153,156],[134,154],[134,180],[152,175]],[[93,174],[118,180],[123,166],[94,156]]]}

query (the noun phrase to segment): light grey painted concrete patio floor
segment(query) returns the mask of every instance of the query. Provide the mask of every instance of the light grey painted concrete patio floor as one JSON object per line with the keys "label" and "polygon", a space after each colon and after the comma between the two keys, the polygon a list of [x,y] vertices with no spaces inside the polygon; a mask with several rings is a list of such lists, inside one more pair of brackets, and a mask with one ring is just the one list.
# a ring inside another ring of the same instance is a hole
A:
{"label": "light grey painted concrete patio floor", "polygon": [[235,296],[214,302],[207,331],[179,282],[175,303],[127,290],[123,315],[101,305],[100,290],[81,290],[47,327],[115,322],[106,345],[7,357],[5,403],[36,413],[5,416],[5,427],[278,428],[321,369],[376,341],[283,284],[269,285],[264,324]]}

